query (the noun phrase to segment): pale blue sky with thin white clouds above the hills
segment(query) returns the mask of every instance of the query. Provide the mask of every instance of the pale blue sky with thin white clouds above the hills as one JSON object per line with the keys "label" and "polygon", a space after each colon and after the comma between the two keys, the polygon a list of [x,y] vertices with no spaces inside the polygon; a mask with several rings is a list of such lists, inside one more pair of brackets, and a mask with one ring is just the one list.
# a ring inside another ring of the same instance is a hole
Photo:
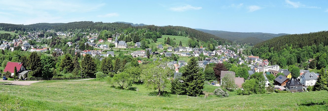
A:
{"label": "pale blue sky with thin white clouds above the hills", "polygon": [[327,0],[0,0],[0,23],[131,22],[231,32],[327,30]]}

